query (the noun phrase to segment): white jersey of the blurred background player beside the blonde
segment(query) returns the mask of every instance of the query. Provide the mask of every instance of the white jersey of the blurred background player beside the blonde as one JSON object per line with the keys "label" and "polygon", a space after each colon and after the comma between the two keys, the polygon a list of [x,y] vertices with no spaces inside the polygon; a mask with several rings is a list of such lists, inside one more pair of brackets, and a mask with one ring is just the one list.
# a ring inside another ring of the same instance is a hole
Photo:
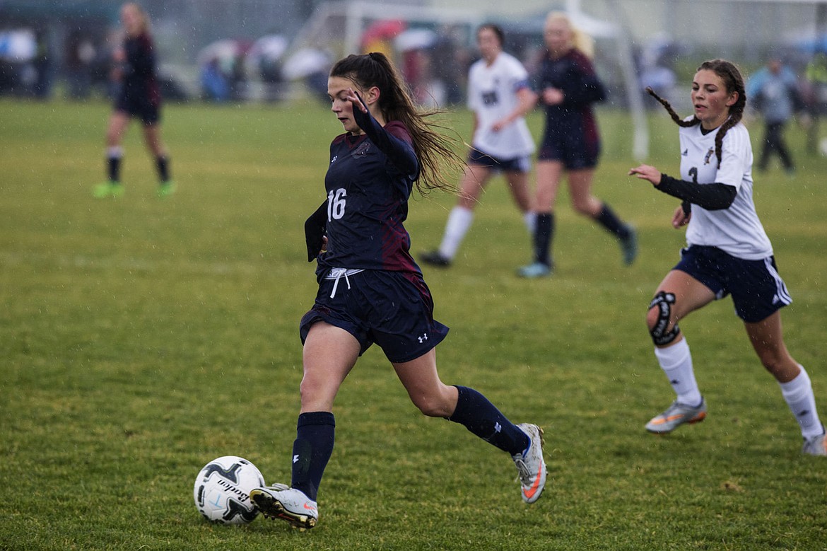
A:
{"label": "white jersey of the blurred background player beside the blonde", "polygon": [[528,89],[528,72],[513,55],[500,52],[491,65],[479,60],[468,73],[468,108],[476,113],[472,145],[500,159],[514,159],[534,152],[534,141],[523,117],[494,132],[491,127],[517,108],[520,89]]}

